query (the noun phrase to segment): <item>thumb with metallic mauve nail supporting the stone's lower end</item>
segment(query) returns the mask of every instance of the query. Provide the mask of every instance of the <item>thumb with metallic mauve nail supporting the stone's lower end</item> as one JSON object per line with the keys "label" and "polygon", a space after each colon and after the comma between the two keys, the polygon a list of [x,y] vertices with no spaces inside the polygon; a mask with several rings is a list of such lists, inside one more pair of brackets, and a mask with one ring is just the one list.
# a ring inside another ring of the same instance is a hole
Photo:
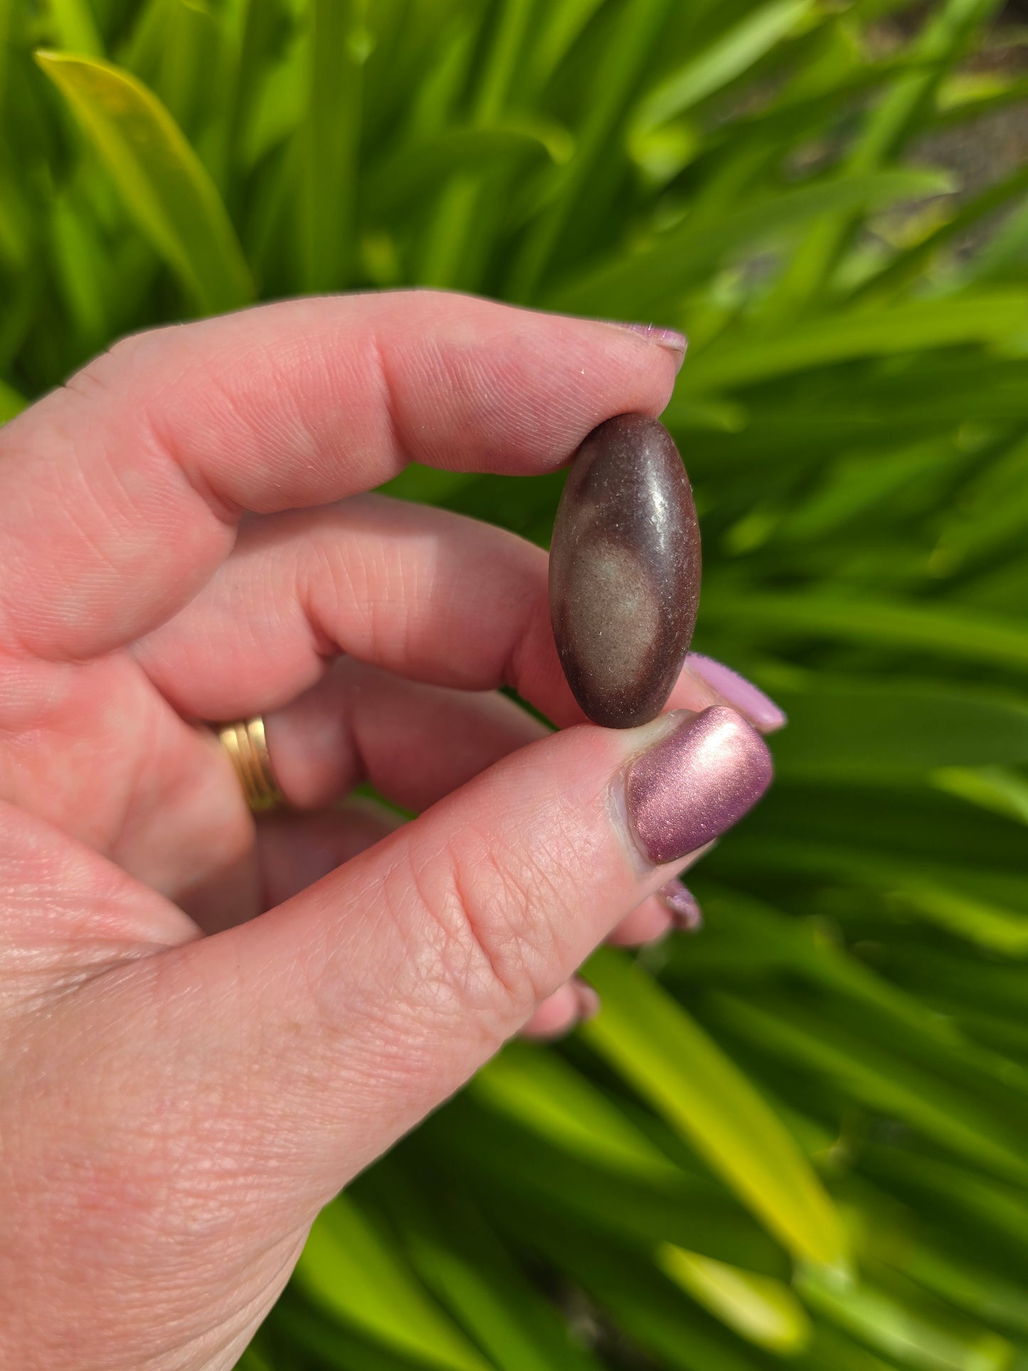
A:
{"label": "thumb with metallic mauve nail supporting the stone's lower end", "polygon": [[[182,1031],[215,1049],[217,1098],[252,1163],[289,1156],[291,1183],[323,1202],[770,777],[759,733],[725,707],[569,728],[277,909],[164,953],[164,993],[178,987]],[[206,1016],[197,982],[218,987]]]}

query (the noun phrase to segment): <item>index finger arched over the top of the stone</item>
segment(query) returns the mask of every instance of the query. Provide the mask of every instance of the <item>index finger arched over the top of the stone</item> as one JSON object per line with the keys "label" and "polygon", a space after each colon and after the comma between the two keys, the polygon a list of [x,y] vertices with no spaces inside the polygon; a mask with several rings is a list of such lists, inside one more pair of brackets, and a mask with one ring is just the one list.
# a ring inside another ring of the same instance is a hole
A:
{"label": "index finger arched over the top of the stone", "polygon": [[0,430],[0,647],[81,658],[155,628],[240,517],[408,461],[550,472],[614,414],[659,414],[661,336],[417,291],[263,306],[119,343]]}

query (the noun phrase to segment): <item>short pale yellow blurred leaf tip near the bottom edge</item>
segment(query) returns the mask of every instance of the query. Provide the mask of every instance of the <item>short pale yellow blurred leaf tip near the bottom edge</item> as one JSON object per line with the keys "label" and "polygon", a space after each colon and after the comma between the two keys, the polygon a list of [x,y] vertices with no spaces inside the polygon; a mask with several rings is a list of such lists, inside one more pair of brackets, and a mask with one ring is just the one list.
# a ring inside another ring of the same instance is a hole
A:
{"label": "short pale yellow blurred leaf tip near the bottom edge", "polygon": [[810,1342],[813,1328],[787,1285],[754,1271],[740,1271],[698,1252],[665,1242],[657,1264],[699,1304],[748,1342],[795,1356]]}

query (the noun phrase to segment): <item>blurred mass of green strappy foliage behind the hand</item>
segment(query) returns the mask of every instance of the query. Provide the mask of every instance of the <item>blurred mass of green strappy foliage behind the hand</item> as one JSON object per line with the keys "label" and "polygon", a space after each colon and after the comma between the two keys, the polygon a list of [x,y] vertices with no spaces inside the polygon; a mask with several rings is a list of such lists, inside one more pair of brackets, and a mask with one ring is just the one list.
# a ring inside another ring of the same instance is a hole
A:
{"label": "blurred mass of green strappy foliage behind the hand", "polygon": [[[703,932],[598,954],[598,1020],[333,1202],[248,1367],[1028,1367],[1028,81],[996,16],[0,0],[0,418],[284,293],[684,326],[696,643],[791,716],[691,877]],[[392,483],[540,543],[559,487]]]}

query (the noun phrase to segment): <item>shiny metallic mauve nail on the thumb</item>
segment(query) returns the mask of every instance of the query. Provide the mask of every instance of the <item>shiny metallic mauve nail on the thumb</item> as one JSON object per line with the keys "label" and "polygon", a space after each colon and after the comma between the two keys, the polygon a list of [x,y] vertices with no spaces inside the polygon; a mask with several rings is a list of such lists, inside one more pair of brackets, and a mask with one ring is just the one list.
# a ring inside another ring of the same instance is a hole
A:
{"label": "shiny metallic mauve nail on the thumb", "polygon": [[733,709],[687,717],[628,771],[625,808],[646,857],[677,861],[737,823],[772,780],[768,747]]}

